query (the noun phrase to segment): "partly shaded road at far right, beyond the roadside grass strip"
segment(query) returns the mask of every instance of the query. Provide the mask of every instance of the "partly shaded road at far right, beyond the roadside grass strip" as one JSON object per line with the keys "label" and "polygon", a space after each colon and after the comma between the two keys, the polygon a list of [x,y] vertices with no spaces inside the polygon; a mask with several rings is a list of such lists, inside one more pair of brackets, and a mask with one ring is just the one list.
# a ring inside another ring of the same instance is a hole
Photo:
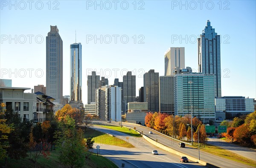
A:
{"label": "partly shaded road at far right, beyond the roadside grass strip", "polygon": [[212,138],[208,137],[208,138],[209,138],[207,141],[208,144],[211,144],[214,146],[219,146],[228,151],[231,151],[233,153],[236,153],[243,157],[246,157],[250,160],[256,161],[256,150],[254,150],[254,149],[250,149],[250,148],[243,147],[243,146],[238,146],[233,143],[228,143],[225,140],[221,140],[219,138],[214,138],[214,137],[212,137]]}

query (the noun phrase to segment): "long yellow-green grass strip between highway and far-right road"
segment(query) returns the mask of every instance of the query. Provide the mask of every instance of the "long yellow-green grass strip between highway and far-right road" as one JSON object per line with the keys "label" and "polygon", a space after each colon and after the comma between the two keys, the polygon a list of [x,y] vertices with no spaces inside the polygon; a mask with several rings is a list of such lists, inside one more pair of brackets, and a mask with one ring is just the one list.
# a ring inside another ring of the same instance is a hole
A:
{"label": "long yellow-green grass strip between highway and far-right road", "polygon": [[[198,148],[198,146],[195,145],[195,144],[192,147]],[[214,154],[214,155],[217,155],[219,157],[224,157],[224,158],[229,159],[229,160],[234,160],[236,162],[241,162],[243,164],[250,165],[250,166],[253,166],[253,167],[255,167],[255,165],[256,165],[255,160],[247,159],[245,157],[242,157],[241,155],[238,155],[238,154],[233,153],[231,151],[228,151],[226,149],[220,148],[218,146],[206,144],[205,147],[200,146],[200,150],[211,153],[211,154]]]}

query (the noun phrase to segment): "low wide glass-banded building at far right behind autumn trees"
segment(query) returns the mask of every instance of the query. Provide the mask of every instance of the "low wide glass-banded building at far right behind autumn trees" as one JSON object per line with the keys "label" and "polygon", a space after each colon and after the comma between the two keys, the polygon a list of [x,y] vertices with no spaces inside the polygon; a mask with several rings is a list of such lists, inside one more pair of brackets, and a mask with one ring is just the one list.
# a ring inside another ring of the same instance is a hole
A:
{"label": "low wide glass-banded building at far right behind autumn trees", "polygon": [[254,112],[253,98],[243,96],[224,96],[215,98],[216,112],[225,112],[227,119]]}

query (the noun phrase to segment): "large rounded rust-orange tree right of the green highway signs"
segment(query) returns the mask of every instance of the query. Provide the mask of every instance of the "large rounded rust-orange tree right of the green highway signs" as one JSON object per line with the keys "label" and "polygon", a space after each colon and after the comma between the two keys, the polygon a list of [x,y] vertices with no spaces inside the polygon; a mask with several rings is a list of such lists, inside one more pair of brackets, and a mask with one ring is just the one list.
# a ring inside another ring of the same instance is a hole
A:
{"label": "large rounded rust-orange tree right of the green highway signs", "polygon": [[247,124],[243,124],[236,128],[234,131],[234,138],[237,142],[241,144],[250,144],[251,134],[249,132],[249,126]]}

